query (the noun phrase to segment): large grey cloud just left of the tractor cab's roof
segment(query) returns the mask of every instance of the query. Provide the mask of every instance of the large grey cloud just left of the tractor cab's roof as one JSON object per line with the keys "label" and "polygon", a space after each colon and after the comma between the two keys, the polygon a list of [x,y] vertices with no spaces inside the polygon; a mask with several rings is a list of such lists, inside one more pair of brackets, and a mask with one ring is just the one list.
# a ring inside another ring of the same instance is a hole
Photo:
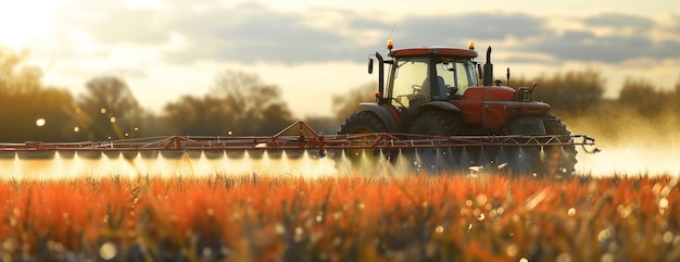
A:
{"label": "large grey cloud just left of the tractor cab's roof", "polygon": [[168,53],[172,62],[227,60],[295,63],[347,58],[352,39],[338,32],[316,28],[302,15],[269,10],[264,5],[214,8],[184,13],[172,28],[189,39],[189,50]]}

